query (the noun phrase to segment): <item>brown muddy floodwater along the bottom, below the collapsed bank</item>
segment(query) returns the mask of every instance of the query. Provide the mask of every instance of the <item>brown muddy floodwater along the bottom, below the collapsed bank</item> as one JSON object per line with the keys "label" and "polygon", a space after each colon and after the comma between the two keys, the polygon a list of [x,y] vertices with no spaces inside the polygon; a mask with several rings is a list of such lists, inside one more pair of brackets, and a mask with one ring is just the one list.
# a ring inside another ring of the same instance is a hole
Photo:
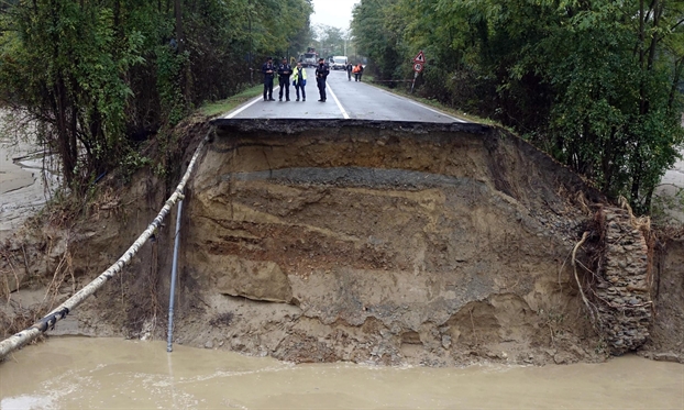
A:
{"label": "brown muddy floodwater along the bottom, below the collapsed bank", "polygon": [[0,365],[14,409],[684,409],[684,366],[293,365],[119,339],[52,337]]}

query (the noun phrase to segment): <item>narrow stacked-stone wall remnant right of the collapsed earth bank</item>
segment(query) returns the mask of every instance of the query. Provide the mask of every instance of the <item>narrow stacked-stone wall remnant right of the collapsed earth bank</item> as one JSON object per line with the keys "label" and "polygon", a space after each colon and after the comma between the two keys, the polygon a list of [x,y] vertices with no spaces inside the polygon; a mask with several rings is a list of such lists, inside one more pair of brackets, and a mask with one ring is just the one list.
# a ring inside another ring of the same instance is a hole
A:
{"label": "narrow stacked-stone wall remnant right of the collapsed earth bank", "polygon": [[648,245],[629,212],[605,208],[605,253],[595,285],[598,324],[613,354],[640,347],[649,336],[652,300]]}

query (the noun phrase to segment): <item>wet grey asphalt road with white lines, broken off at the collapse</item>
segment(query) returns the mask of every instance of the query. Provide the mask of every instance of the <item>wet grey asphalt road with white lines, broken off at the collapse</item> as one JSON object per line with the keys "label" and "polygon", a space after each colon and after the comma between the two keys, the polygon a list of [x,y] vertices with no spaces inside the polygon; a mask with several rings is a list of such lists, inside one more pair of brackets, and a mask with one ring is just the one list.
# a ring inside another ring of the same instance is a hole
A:
{"label": "wet grey asphalt road with white lines, broken off at the collapse", "polygon": [[331,70],[328,76],[328,100],[319,102],[313,68],[307,68],[307,101],[295,101],[297,93],[290,82],[290,101],[278,101],[278,79],[274,80],[273,98],[263,97],[225,114],[225,119],[354,119],[413,122],[466,122],[433,108],[384,91],[365,82],[347,80],[346,71]]}

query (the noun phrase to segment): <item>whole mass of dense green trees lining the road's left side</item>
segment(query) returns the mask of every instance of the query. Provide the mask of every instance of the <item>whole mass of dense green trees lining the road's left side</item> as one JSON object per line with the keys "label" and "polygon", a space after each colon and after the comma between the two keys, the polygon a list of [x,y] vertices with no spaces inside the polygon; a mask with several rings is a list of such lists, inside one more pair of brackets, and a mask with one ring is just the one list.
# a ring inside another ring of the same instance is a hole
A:
{"label": "whole mass of dense green trees lining the road's left side", "polygon": [[[309,43],[310,0],[4,0],[0,99],[27,112],[78,191],[135,140]],[[258,79],[256,77],[255,79]]]}

